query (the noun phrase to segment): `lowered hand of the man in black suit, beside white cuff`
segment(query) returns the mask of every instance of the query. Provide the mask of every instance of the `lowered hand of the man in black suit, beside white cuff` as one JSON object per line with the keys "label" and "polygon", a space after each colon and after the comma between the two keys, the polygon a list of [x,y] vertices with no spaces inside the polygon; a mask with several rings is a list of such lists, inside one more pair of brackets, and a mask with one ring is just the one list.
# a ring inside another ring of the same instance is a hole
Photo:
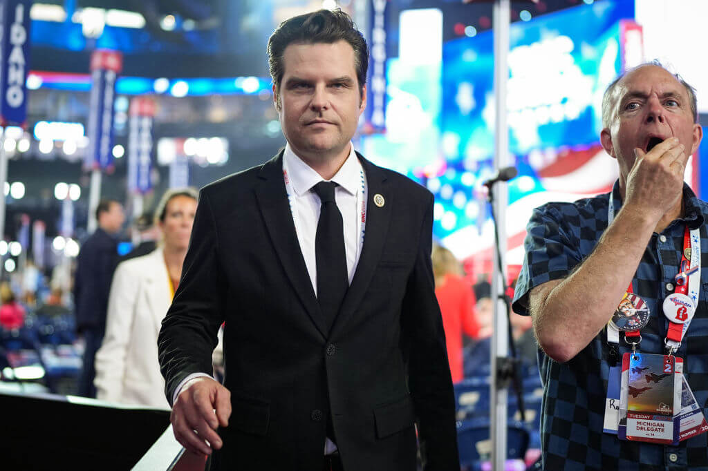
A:
{"label": "lowered hand of the man in black suit, beside white cuff", "polygon": [[[231,392],[212,378],[188,381],[172,406],[170,421],[177,441],[191,453],[209,455],[219,450],[219,426],[229,424]],[[211,445],[211,447],[210,447]]]}

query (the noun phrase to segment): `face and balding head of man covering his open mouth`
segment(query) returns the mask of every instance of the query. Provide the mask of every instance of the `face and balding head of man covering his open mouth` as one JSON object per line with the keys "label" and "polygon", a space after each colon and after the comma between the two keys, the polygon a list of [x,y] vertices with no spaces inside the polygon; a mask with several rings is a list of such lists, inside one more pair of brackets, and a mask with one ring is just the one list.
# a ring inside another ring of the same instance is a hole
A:
{"label": "face and balding head of man covering his open mouth", "polygon": [[643,66],[629,72],[615,88],[612,124],[603,129],[605,151],[617,158],[621,181],[627,181],[634,165],[634,149],[651,151],[653,146],[677,137],[689,155],[702,138],[695,124],[690,97],[675,76],[659,66]]}

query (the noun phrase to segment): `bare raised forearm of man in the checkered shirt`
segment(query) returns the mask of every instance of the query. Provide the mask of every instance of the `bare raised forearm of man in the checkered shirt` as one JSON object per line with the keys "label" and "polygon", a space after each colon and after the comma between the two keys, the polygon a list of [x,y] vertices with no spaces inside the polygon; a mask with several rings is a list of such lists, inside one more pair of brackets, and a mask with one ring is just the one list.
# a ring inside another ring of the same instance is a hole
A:
{"label": "bare raised forearm of man in the checkered shirt", "polygon": [[656,221],[624,207],[580,267],[530,293],[539,344],[556,361],[569,361],[607,324],[634,277]]}

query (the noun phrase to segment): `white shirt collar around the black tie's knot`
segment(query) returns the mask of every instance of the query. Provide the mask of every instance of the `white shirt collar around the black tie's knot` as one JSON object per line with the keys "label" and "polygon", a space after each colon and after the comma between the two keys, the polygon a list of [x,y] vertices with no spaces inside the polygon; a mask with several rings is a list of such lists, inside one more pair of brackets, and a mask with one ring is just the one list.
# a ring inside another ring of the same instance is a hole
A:
{"label": "white shirt collar around the black tie's knot", "polygon": [[[290,144],[285,144],[285,152],[282,154],[282,158],[290,173],[292,190],[297,196],[302,196],[302,194],[309,192],[314,185],[324,180],[319,173],[307,163],[304,163],[292,151]],[[361,163],[354,152],[354,146],[350,143],[347,160],[344,161],[341,168],[330,181],[335,182],[350,194],[356,194],[361,180],[360,170]]]}

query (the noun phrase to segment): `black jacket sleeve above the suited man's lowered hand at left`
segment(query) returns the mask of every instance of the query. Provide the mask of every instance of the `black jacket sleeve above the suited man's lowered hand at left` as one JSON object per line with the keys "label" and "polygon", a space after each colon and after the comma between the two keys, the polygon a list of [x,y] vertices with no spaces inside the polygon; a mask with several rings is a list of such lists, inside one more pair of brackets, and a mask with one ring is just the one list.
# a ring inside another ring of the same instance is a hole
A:
{"label": "black jacket sleeve above the suited man's lowered hand at left", "polygon": [[182,278],[157,339],[165,393],[172,404],[176,386],[190,373],[212,375],[212,351],[224,320],[224,277],[220,240],[205,189],[200,192]]}

